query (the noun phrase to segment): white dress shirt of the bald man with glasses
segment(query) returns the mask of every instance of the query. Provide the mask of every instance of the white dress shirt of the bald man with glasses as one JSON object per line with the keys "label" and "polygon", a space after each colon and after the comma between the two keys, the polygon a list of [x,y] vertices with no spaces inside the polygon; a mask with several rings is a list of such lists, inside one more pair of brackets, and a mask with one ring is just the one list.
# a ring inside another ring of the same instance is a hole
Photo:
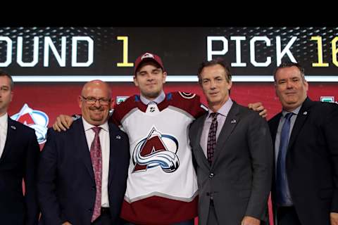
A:
{"label": "white dress shirt of the bald man with glasses", "polygon": [[[95,132],[92,124],[89,124],[82,117],[84,132],[86,134],[87,144],[90,151],[90,146],[94,140]],[[109,155],[110,155],[110,140],[108,122],[100,125],[101,131],[99,133],[101,152],[102,152],[102,188],[101,188],[101,207],[109,207],[108,198],[108,172],[109,172]]]}

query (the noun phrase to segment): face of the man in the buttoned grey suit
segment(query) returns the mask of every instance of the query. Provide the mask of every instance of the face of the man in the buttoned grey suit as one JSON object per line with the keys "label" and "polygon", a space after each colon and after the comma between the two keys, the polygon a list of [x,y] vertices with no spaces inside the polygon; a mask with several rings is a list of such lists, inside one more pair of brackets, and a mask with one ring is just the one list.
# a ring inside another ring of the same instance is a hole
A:
{"label": "face of the man in the buttoned grey suit", "polygon": [[208,107],[217,112],[229,99],[232,82],[222,65],[210,65],[201,70],[201,86],[208,101]]}

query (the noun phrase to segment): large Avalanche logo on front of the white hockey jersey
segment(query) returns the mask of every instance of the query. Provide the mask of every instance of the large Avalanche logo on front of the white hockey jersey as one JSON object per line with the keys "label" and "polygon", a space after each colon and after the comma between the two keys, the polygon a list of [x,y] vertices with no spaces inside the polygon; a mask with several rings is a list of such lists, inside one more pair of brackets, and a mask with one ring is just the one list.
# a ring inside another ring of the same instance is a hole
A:
{"label": "large Avalanche logo on front of the white hockey jersey", "polygon": [[161,134],[153,127],[146,137],[137,143],[132,153],[132,172],[161,167],[164,172],[174,172],[180,166],[176,153],[178,141],[174,136]]}

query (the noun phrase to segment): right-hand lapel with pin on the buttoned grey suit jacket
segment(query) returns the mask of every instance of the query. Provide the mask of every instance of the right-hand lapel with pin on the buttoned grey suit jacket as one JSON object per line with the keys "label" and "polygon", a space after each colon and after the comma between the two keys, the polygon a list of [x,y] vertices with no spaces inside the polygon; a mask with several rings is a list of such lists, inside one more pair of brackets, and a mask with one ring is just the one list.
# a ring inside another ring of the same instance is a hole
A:
{"label": "right-hand lapel with pin on the buttoned grey suit jacket", "polygon": [[230,134],[236,127],[237,123],[239,122],[239,108],[236,102],[233,102],[232,107],[230,108],[229,113],[227,114],[227,118],[223,124],[222,129],[220,130],[220,135],[218,136],[215,153],[213,155],[213,163],[211,166],[215,165],[215,162],[218,159],[218,155],[223,150],[227,139],[229,138]]}

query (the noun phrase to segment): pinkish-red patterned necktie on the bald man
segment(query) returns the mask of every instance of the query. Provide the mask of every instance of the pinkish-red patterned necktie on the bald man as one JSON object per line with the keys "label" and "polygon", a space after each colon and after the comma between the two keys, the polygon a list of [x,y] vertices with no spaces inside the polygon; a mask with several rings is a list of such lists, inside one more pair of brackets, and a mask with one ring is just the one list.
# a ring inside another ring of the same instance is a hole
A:
{"label": "pinkish-red patterned necktie on the bald man", "polygon": [[99,132],[101,127],[92,127],[95,132],[94,140],[90,146],[90,158],[92,158],[92,165],[94,169],[96,196],[94,212],[92,215],[92,222],[101,214],[101,186],[102,186],[102,153]]}

